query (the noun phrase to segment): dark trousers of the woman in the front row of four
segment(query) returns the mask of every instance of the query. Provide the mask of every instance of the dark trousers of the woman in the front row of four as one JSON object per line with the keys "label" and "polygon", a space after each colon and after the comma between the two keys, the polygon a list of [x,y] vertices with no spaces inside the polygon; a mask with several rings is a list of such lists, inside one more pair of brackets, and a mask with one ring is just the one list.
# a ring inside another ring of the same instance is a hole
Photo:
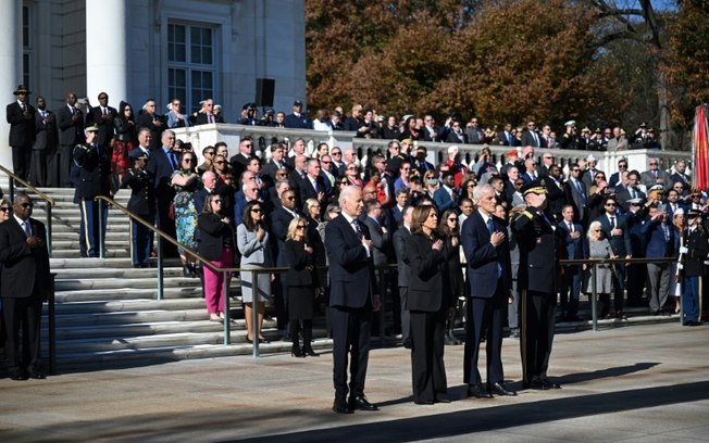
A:
{"label": "dark trousers of the woman in the front row of four", "polygon": [[432,403],[448,390],[444,365],[446,311],[411,311],[411,379],[413,401]]}

